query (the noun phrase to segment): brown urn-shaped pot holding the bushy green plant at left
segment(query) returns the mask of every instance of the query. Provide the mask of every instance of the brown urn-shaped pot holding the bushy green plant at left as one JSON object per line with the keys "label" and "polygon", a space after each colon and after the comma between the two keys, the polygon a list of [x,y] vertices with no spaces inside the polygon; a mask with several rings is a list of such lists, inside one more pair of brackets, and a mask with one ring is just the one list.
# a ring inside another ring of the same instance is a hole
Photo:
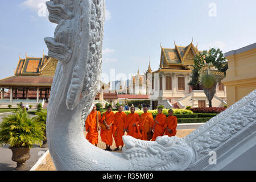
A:
{"label": "brown urn-shaped pot holding the bushy green plant at left", "polygon": [[9,147],[13,152],[11,160],[17,163],[15,170],[17,171],[28,171],[26,161],[30,159],[30,148],[28,147]]}

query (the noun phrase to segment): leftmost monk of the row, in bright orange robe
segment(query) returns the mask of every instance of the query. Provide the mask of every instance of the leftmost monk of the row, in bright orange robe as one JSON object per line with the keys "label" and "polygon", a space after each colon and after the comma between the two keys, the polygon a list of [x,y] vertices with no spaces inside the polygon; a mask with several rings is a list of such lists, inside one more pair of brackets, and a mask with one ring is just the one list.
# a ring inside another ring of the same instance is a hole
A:
{"label": "leftmost monk of the row, in bright orange robe", "polygon": [[[89,140],[90,143],[95,144],[97,147],[98,144],[98,130],[99,130],[99,122],[101,121],[101,113],[96,110],[96,105],[93,106],[92,112],[88,115],[85,121],[85,131],[87,131],[86,139]],[[98,114],[98,121],[97,121]]]}

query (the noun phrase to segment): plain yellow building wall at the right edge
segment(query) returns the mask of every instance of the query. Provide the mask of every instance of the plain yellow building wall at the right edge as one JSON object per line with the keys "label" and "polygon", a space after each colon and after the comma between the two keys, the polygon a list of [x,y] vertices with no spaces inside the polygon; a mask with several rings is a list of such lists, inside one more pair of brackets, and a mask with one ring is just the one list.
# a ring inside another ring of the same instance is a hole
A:
{"label": "plain yellow building wall at the right edge", "polygon": [[221,82],[226,86],[229,107],[256,89],[256,43],[225,56],[229,69]]}

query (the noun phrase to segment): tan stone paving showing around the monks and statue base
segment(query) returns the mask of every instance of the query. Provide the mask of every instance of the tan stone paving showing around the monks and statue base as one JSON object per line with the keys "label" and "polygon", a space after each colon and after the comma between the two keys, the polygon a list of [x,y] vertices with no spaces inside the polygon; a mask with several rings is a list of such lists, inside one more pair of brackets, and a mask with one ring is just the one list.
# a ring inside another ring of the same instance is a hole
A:
{"label": "tan stone paving showing around the monks and statue base", "polygon": [[[189,133],[191,133],[194,130],[195,129],[177,130],[176,136],[179,137],[179,138],[183,138],[183,137],[186,137]],[[86,134],[87,134],[87,132],[84,133],[85,136],[86,136]],[[100,133],[99,133],[99,137],[98,137],[98,147],[101,148],[101,149],[106,148],[105,143],[101,141]],[[113,144],[110,148],[112,148],[112,150],[114,148],[116,148],[114,138],[113,138]],[[113,152],[122,152],[122,151],[119,150],[119,151],[113,151]],[[45,164],[40,164],[40,166],[38,168],[36,168],[35,171],[56,171],[50,154],[48,154],[46,156],[45,162],[46,162]]]}

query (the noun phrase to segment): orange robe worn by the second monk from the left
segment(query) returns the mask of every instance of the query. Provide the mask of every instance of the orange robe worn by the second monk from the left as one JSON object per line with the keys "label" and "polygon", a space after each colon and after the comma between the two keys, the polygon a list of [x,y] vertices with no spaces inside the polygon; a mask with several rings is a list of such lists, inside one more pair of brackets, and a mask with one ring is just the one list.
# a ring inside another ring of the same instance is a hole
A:
{"label": "orange robe worn by the second monk from the left", "polygon": [[[104,123],[104,119],[105,119],[107,125],[110,125],[110,123],[112,123],[112,125],[113,125],[114,119],[115,119],[115,114],[113,113],[113,111],[111,111],[110,113],[108,111],[106,111],[105,113],[102,114],[102,118],[101,118],[102,123]],[[102,142],[105,142],[109,146],[112,146],[112,142],[113,142],[112,129],[113,129],[113,126],[110,126],[110,130],[108,130],[108,129],[102,130],[101,129],[101,140],[102,140]]]}

